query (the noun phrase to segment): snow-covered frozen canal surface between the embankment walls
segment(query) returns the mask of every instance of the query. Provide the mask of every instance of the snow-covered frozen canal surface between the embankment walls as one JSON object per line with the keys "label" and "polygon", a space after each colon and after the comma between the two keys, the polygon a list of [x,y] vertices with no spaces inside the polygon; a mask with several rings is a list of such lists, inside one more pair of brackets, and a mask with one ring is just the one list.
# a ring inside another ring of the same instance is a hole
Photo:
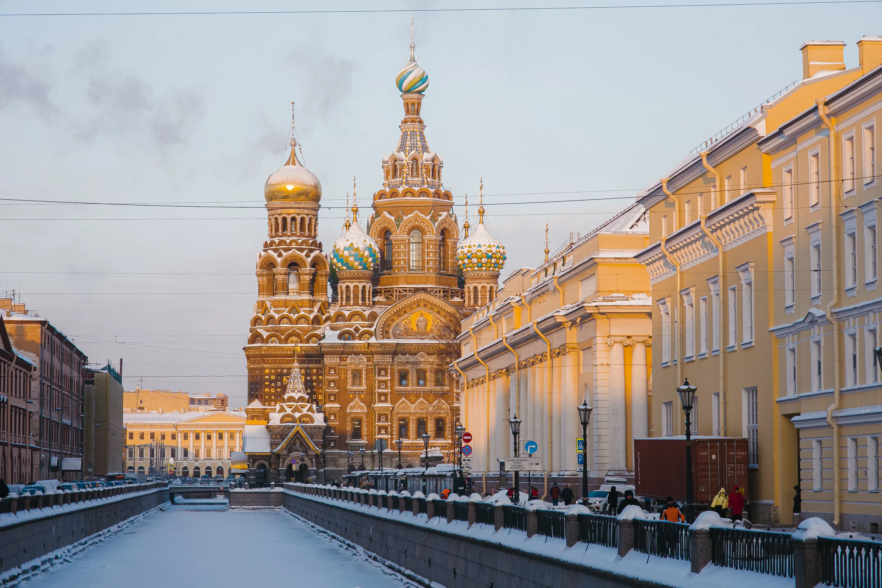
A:
{"label": "snow-covered frozen canal surface between the embankment walls", "polygon": [[417,585],[280,510],[164,508],[22,586]]}

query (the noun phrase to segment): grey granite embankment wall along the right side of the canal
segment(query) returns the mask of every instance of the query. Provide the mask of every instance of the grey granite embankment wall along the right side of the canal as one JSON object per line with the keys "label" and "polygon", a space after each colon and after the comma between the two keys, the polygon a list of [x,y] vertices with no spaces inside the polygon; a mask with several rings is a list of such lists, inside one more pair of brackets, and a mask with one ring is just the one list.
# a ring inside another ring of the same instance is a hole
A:
{"label": "grey granite embankment wall along the right side of the canal", "polygon": [[448,588],[647,588],[662,585],[439,528],[408,525],[287,489],[282,506],[314,525]]}

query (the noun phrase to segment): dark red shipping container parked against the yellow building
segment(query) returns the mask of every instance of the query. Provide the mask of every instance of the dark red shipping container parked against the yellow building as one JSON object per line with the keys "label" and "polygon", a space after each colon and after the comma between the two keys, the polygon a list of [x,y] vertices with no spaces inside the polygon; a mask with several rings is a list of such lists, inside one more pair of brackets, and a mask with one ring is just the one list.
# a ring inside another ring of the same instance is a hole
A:
{"label": "dark red shipping container parked against the yellow building", "polygon": [[[692,485],[696,504],[710,503],[720,488],[747,490],[747,439],[692,437]],[[634,486],[637,495],[686,500],[686,437],[634,439]]]}

